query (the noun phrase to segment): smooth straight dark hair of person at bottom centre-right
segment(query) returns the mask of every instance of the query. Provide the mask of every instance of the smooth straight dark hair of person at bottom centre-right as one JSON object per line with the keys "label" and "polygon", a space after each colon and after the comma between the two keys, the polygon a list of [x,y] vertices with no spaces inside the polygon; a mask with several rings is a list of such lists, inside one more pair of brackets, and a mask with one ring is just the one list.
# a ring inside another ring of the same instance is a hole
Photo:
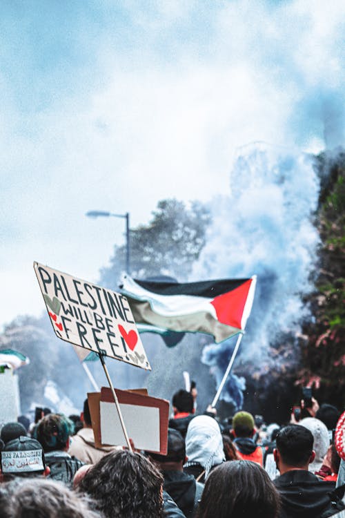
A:
{"label": "smooth straight dark hair of person at bottom centre-right", "polygon": [[259,464],[224,462],[210,472],[198,518],[276,518],[279,493]]}

